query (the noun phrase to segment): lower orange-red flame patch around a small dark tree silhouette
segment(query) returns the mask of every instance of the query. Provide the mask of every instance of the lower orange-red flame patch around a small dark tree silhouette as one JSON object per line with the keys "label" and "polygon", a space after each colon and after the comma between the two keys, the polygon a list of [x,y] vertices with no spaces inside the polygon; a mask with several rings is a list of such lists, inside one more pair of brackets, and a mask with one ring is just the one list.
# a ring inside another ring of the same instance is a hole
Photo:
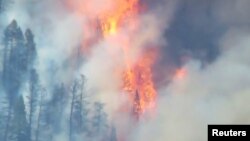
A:
{"label": "lower orange-red flame patch around a small dark tree silhouette", "polygon": [[146,52],[123,74],[123,88],[130,94],[131,102],[135,106],[133,112],[136,116],[155,107],[156,90],[151,70],[154,55],[154,53]]}

